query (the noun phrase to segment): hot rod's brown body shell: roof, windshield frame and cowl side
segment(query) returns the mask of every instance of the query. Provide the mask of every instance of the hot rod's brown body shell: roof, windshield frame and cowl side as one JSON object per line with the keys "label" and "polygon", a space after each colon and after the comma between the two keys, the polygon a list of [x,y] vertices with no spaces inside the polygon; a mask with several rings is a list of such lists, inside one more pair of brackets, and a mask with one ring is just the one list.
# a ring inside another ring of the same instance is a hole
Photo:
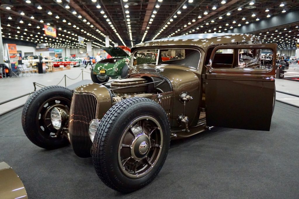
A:
{"label": "hot rod's brown body shell: roof, windshield frame and cowl side", "polygon": [[[172,118],[172,129],[178,129],[179,123],[177,122],[177,117],[182,113],[183,104],[179,101],[179,94],[182,91],[190,92],[191,96],[194,98],[186,105],[186,115],[189,117],[188,125],[194,127],[197,125],[200,108],[205,108],[205,103],[202,101],[202,73],[205,72],[205,51],[213,46],[225,44],[225,43],[258,43],[259,39],[256,36],[248,34],[223,34],[223,35],[213,35],[203,34],[205,38],[201,38],[202,35],[179,36],[173,38],[159,39],[154,41],[145,42],[142,44],[137,44],[132,48],[131,58],[133,59],[134,53],[138,50],[145,49],[184,49],[190,48],[200,51],[201,58],[199,61],[199,66],[197,69],[191,67],[177,66],[177,65],[149,65],[143,64],[138,66],[132,66],[129,73],[138,73],[139,70],[144,68],[155,68],[160,75],[165,76],[171,81],[173,87],[173,115]],[[239,45],[237,45],[239,46]],[[133,60],[132,62],[133,63]]]}

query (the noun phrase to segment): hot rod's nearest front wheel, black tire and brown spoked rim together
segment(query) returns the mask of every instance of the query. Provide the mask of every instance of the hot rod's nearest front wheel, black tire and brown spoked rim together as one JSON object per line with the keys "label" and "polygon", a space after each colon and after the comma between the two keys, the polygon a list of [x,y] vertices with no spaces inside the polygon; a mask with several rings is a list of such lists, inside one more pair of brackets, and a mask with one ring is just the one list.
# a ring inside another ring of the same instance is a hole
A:
{"label": "hot rod's nearest front wheel, black tire and brown spoked rim together", "polygon": [[161,170],[170,144],[164,109],[147,98],[130,98],[111,107],[96,132],[92,158],[100,179],[119,192],[149,184]]}

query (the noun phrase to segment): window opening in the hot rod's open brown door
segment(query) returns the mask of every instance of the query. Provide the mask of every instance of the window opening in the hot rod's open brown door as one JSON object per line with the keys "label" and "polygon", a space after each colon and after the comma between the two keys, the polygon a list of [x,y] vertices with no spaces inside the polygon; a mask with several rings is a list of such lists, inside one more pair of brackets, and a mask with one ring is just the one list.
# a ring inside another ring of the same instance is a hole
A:
{"label": "window opening in the hot rod's open brown door", "polygon": [[212,68],[270,70],[272,53],[268,49],[219,49],[213,57]]}

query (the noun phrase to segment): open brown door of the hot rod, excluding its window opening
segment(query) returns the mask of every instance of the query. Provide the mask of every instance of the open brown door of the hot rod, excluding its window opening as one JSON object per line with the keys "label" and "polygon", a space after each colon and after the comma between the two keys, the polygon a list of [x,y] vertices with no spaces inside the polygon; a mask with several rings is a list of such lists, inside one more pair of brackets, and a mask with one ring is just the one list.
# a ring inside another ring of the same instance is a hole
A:
{"label": "open brown door of the hot rod, excluding its window opening", "polygon": [[219,49],[270,49],[271,70],[213,69],[208,66],[205,80],[206,121],[208,126],[270,130],[275,100],[276,44],[227,45]]}

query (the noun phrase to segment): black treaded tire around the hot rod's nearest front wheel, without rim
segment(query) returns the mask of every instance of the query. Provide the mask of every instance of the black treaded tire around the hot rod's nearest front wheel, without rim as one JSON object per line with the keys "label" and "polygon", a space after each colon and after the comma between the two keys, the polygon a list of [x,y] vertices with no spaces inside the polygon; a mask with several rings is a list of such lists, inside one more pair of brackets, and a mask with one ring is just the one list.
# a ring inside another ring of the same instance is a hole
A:
{"label": "black treaded tire around the hot rod's nearest front wheel, without rim", "polygon": [[[133,179],[124,175],[120,169],[118,147],[125,133],[124,129],[129,128],[128,125],[131,125],[132,121],[142,116],[149,116],[158,121],[163,141],[162,146],[160,145],[160,156],[152,170],[140,178]],[[164,109],[147,98],[129,98],[111,107],[100,122],[91,149],[94,168],[103,183],[110,188],[124,193],[133,192],[149,184],[158,175],[166,160],[169,145],[170,124]]]}

